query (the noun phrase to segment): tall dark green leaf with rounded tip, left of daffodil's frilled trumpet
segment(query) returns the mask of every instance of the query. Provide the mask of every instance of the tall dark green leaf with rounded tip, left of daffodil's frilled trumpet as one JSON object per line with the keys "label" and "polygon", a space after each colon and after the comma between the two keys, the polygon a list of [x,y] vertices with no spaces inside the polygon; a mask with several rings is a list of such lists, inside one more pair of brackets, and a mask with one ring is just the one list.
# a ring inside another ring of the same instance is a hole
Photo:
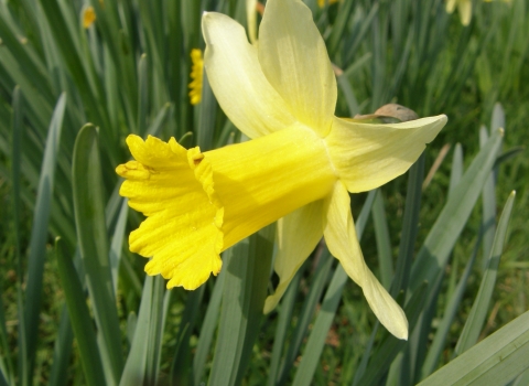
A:
{"label": "tall dark green leaf with rounded tip, left of daffodil's frilled trumpet", "polygon": [[116,385],[123,367],[121,333],[108,256],[98,135],[90,124],[85,125],[77,135],[72,180],[77,240],[99,331],[98,343],[106,384]]}

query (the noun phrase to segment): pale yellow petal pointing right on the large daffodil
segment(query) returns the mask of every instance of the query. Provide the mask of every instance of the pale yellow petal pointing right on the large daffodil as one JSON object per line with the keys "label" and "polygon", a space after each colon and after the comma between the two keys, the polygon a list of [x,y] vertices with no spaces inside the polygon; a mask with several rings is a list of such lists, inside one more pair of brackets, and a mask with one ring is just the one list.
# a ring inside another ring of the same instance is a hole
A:
{"label": "pale yellow petal pointing right on the large daffodil", "polygon": [[441,115],[401,124],[369,125],[335,118],[325,141],[347,190],[366,192],[404,173],[446,120]]}

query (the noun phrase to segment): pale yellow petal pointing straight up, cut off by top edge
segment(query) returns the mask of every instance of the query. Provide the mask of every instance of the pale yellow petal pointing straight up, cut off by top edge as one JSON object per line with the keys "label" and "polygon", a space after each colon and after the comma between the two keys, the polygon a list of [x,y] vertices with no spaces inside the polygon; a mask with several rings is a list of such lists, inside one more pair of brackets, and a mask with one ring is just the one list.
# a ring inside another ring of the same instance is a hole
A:
{"label": "pale yellow petal pointing straight up, cut off by top edge", "polygon": [[336,106],[336,78],[303,2],[267,1],[259,28],[259,62],[291,114],[324,137]]}

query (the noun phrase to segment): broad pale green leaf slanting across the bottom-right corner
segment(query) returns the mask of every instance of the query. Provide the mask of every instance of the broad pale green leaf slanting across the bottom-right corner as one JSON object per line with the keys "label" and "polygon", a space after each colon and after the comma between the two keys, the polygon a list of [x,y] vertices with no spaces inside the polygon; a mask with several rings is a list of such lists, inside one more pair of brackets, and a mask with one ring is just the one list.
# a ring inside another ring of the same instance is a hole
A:
{"label": "broad pale green leaf slanting across the bottom-right corner", "polygon": [[506,385],[529,367],[529,311],[496,331],[421,386]]}

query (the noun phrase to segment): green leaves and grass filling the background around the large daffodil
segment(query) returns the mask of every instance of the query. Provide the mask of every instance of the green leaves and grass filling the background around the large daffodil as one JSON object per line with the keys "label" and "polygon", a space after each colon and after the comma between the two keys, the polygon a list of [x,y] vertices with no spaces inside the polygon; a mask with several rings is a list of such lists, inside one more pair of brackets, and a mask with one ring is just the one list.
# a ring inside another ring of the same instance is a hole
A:
{"label": "green leaves and grass filling the background around the large daffodil", "polygon": [[[273,227],[226,251],[233,269],[194,292],[165,291],[128,250],[142,218],[117,193],[125,138],[239,141],[206,77],[192,105],[191,53],[204,47],[203,11],[251,28],[266,3],[0,0],[0,385],[410,385],[449,362],[468,376],[471,360],[510,350],[466,351],[528,309],[526,1],[472,1],[467,26],[441,0],[305,3],[335,65],[337,116],[387,103],[449,116],[407,175],[353,196],[409,343],[379,331],[324,245],[263,317]],[[514,380],[527,367],[523,323],[500,330],[505,344],[518,339],[511,367],[489,361],[476,376],[529,383],[527,371]],[[434,376],[425,383],[446,382]]]}

